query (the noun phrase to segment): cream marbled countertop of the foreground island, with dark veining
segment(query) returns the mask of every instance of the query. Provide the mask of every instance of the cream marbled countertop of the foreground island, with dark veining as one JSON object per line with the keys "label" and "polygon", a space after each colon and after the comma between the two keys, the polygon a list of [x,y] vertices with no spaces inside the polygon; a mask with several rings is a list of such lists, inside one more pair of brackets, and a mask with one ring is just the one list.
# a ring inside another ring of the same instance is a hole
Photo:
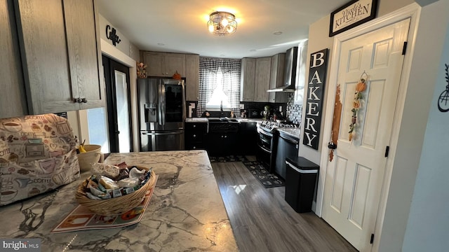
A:
{"label": "cream marbled countertop of the foreground island, with dark veining", "polygon": [[153,167],[159,175],[140,223],[51,233],[78,204],[81,179],[0,207],[0,237],[41,239],[41,251],[239,251],[206,151],[112,153],[105,162]]}

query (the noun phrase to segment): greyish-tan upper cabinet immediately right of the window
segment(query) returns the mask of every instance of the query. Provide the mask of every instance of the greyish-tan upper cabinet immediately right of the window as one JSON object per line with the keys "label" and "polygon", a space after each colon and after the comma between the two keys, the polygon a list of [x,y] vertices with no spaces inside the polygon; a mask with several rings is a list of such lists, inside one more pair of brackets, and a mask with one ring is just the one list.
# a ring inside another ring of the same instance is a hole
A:
{"label": "greyish-tan upper cabinet immediately right of the window", "polygon": [[241,59],[240,101],[254,102],[255,58]]}

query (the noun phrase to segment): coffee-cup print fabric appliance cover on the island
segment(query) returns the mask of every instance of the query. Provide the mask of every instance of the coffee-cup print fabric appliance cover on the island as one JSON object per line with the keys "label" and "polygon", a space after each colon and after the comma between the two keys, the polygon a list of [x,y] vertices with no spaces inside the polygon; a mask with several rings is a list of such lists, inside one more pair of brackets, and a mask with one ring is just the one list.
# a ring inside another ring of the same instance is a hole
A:
{"label": "coffee-cup print fabric appliance cover on the island", "polygon": [[54,114],[0,119],[0,205],[79,178],[76,139]]}

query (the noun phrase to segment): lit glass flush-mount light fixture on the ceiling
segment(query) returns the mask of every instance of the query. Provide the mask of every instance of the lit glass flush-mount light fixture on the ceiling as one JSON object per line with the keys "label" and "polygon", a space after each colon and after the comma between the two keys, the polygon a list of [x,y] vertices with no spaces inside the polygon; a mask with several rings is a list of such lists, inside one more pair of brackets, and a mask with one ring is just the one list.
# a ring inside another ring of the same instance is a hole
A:
{"label": "lit glass flush-mount light fixture on the ceiling", "polygon": [[215,11],[210,13],[208,28],[211,34],[228,35],[236,32],[236,16],[226,11]]}

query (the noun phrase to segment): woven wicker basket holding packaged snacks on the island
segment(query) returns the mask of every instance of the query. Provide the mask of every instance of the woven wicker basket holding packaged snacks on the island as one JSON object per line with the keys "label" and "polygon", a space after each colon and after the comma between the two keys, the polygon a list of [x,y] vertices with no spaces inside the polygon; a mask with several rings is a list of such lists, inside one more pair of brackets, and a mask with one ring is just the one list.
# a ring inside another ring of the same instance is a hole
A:
{"label": "woven wicker basket holding packaged snacks on the island", "polygon": [[[146,167],[137,167],[138,169],[148,169]],[[91,200],[83,192],[83,183],[78,186],[76,190],[76,201],[93,211],[95,214],[102,216],[112,216],[118,214],[124,214],[127,211],[137,207],[145,197],[145,193],[149,188],[152,188],[156,182],[156,174],[152,171],[147,183],[144,186],[136,190],[134,193],[123,195],[121,197],[115,197],[108,200]]]}

